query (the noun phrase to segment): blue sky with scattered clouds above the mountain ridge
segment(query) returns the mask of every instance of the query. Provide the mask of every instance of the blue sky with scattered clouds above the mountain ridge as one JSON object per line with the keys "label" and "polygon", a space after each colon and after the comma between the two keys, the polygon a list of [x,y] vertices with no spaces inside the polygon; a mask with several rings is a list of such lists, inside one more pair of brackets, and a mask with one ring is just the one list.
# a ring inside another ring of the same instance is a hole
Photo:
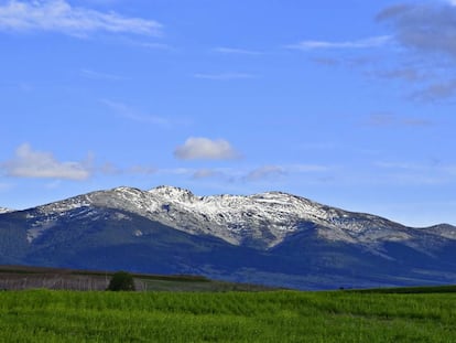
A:
{"label": "blue sky with scattered clouds above the mountain ridge", "polygon": [[0,206],[284,191],[456,224],[452,1],[0,0]]}

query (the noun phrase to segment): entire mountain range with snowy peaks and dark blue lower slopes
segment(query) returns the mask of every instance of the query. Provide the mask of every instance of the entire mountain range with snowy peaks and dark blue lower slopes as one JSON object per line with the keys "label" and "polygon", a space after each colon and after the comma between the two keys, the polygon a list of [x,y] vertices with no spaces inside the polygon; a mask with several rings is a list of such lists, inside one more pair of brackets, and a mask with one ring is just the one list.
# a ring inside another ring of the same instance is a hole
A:
{"label": "entire mountain range with snowy peaks and dark blue lower slopes", "polygon": [[282,192],[117,187],[0,208],[0,264],[296,289],[456,283],[456,227],[415,228]]}

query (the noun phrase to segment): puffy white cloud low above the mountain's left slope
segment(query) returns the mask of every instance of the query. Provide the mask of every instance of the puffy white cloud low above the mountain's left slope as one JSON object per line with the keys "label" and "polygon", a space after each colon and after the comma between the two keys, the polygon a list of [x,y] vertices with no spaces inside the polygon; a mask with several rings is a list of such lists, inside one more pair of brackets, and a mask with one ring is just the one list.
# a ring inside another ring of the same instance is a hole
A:
{"label": "puffy white cloud low above the mountain's left slope", "polygon": [[85,180],[90,176],[82,162],[59,162],[51,152],[34,151],[28,143],[15,150],[12,160],[2,163],[7,175],[17,178]]}

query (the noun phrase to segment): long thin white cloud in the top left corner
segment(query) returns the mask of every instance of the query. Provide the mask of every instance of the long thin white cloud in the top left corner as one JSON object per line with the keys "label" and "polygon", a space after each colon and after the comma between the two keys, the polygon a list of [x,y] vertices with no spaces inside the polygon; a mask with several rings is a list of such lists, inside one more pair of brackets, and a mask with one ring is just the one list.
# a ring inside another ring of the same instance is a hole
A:
{"label": "long thin white cloud in the top left corner", "polygon": [[94,32],[160,35],[152,20],[72,7],[65,0],[9,1],[0,7],[0,30],[54,31],[75,36]]}

